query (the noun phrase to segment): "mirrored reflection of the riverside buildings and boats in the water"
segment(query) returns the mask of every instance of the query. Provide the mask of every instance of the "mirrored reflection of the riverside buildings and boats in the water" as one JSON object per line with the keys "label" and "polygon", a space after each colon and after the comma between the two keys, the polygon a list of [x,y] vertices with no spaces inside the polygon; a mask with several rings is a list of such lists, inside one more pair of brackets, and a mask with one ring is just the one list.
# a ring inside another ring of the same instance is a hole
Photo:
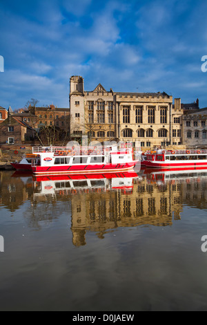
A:
{"label": "mirrored reflection of the riverside buildings and boats in the water", "polygon": [[[142,169],[139,174],[37,178],[18,173],[11,178],[2,172],[0,200],[11,211],[30,200],[32,228],[39,228],[40,219],[50,222],[58,219],[61,212],[68,212],[72,243],[81,246],[86,245],[87,232],[95,232],[103,239],[119,227],[172,225],[181,219],[184,205],[206,209],[206,184],[205,170]],[[52,209],[48,210],[48,204]]]}

